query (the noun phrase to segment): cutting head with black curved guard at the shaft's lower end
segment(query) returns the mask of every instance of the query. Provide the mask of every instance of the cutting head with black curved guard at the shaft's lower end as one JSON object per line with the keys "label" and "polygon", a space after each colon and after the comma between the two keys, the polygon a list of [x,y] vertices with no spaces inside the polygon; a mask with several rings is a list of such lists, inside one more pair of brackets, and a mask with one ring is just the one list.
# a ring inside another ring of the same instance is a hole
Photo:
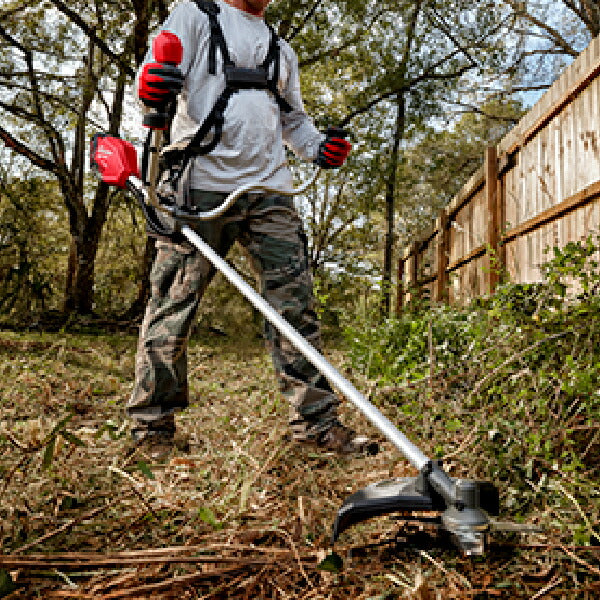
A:
{"label": "cutting head with black curved guard at the shaft's lower end", "polygon": [[[490,529],[488,515],[497,516],[499,508],[499,494],[493,484],[451,479],[439,462],[430,462],[418,477],[373,483],[346,498],[333,526],[332,541],[335,543],[349,527],[373,517],[417,513],[411,520],[434,521],[450,534],[464,554],[481,555]],[[429,514],[421,516],[419,513]],[[431,513],[437,513],[437,517]]]}

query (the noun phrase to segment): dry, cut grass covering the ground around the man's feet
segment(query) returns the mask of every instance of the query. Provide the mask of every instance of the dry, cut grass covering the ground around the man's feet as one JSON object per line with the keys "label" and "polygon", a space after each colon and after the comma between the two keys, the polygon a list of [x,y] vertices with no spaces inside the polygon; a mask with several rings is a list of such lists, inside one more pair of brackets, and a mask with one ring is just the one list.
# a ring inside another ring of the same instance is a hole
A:
{"label": "dry, cut grass covering the ground around the man's feet", "polygon": [[[485,559],[465,559],[411,548],[391,519],[344,534],[340,572],[317,568],[344,497],[410,474],[405,461],[389,446],[347,460],[295,447],[261,344],[217,338],[191,346],[192,405],[179,420],[191,453],[163,465],[127,456],[134,347],[125,335],[0,334],[0,569],[17,584],[6,597],[600,593],[598,554],[561,547],[551,534],[497,540]],[[349,407],[344,418],[365,429]]]}

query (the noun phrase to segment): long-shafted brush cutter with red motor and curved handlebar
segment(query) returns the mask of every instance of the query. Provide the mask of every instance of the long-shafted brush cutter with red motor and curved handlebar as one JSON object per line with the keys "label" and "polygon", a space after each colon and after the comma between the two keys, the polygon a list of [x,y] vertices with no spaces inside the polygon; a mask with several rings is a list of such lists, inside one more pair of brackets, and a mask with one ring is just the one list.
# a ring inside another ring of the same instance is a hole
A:
{"label": "long-shafted brush cutter with red motor and curved handlebar", "polygon": [[[156,46],[155,46],[156,49]],[[164,62],[168,58],[161,57]],[[161,58],[156,57],[159,62]],[[173,61],[171,61],[173,62]],[[157,122],[158,121],[158,122]],[[245,185],[225,198],[221,206],[204,213],[193,213],[172,202],[161,202],[155,184],[158,176],[159,151],[164,118],[156,114],[147,119],[152,130],[149,157],[149,184],[140,179],[135,148],[125,140],[96,134],[91,143],[91,164],[108,184],[129,189],[139,201],[153,229],[172,234],[158,218],[159,213],[171,217],[177,232],[183,235],[218,269],[279,332],[309,360],[339,392],[350,400],[369,421],[418,470],[415,478],[396,478],[381,481],[349,496],[338,511],[332,541],[346,529],[372,517],[390,513],[411,514],[411,521],[435,523],[450,534],[453,542],[467,555],[483,554],[488,532],[492,527],[490,515],[499,512],[498,490],[487,482],[455,479],[442,468],[439,461],[428,458],[394,424],[371,404],[315,348],[313,348],[277,311],[275,311],[240,275],[222,259],[191,227],[194,221],[213,219],[223,214],[243,194],[250,191],[274,192],[257,182]],[[290,195],[301,194],[315,181],[313,177]],[[425,514],[423,514],[425,513]]]}

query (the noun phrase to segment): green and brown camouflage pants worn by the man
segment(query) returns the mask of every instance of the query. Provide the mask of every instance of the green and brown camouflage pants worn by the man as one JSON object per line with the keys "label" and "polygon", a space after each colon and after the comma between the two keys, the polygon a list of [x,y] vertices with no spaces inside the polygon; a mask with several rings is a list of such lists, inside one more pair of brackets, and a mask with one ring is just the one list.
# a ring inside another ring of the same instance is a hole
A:
{"label": "green and brown camouflage pants worn by the man", "polygon": [[[219,205],[224,194],[192,190],[199,210]],[[306,237],[291,198],[250,195],[223,216],[194,226],[225,256],[235,241],[248,252],[260,292],[297,331],[320,349]],[[140,331],[136,381],[127,413],[141,427],[158,427],[188,406],[186,349],[198,304],[215,274],[187,241],[157,242],[150,275],[151,297]],[[280,389],[290,403],[295,439],[327,430],[337,418],[338,399],[327,380],[270,324],[265,326]]]}

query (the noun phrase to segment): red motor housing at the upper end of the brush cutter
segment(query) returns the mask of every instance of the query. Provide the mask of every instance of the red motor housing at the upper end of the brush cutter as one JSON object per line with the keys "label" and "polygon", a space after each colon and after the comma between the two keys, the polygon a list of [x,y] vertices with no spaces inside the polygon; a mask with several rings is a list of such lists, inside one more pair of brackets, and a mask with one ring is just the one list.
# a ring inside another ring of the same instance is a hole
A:
{"label": "red motor housing at the upper end of the brush cutter", "polygon": [[139,177],[133,144],[105,133],[96,133],[90,144],[90,164],[108,185],[125,188],[130,176]]}

